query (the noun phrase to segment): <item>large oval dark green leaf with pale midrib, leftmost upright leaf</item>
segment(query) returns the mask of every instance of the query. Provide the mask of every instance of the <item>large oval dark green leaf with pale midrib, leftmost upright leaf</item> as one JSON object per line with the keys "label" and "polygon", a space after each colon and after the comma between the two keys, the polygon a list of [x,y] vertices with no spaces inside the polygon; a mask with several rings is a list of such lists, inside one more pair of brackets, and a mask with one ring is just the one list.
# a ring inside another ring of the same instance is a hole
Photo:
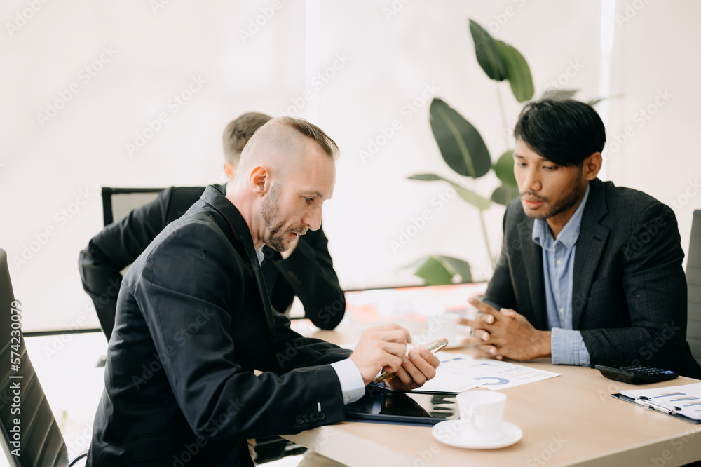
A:
{"label": "large oval dark green leaf with pale midrib, leftmost upright leaf", "polygon": [[441,155],[449,167],[465,177],[482,177],[491,157],[477,128],[440,99],[431,102],[430,123]]}

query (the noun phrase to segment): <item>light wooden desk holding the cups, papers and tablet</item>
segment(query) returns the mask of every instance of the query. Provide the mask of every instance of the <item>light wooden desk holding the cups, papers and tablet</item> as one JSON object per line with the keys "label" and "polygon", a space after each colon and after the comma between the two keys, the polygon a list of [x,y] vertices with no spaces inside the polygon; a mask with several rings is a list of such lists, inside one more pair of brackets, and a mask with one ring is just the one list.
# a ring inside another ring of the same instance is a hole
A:
{"label": "light wooden desk holding the cups, papers and tablet", "polygon": [[[313,337],[345,343],[353,334],[321,331]],[[552,365],[549,359],[524,365],[561,376],[501,391],[508,396],[504,420],[524,431],[522,440],[510,447],[459,449],[435,440],[430,428],[357,422],[322,426],[285,438],[352,467],[669,467],[701,460],[701,425],[610,395],[636,386],[606,379],[598,370]],[[693,382],[698,381],[679,377],[645,387]]]}

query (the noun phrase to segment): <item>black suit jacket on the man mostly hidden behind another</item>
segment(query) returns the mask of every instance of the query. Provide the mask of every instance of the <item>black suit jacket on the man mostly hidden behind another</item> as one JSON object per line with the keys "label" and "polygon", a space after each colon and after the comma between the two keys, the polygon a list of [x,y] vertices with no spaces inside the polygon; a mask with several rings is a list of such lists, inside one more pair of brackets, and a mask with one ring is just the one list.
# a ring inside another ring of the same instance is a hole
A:
{"label": "black suit jacket on the man mostly hidden behind another", "polygon": [[[224,191],[224,186],[219,189]],[[165,226],[178,219],[200,199],[204,187],[170,187],[156,200],[105,226],[81,251],[79,269],[83,289],[93,299],[97,317],[109,339],[114,327],[120,271],[132,264]],[[279,252],[263,248],[261,264],[273,308],[285,313],[297,295],[306,318],[322,329],[333,329],[343,319],[346,299],[329,255],[322,229],[308,231],[283,261]]]}

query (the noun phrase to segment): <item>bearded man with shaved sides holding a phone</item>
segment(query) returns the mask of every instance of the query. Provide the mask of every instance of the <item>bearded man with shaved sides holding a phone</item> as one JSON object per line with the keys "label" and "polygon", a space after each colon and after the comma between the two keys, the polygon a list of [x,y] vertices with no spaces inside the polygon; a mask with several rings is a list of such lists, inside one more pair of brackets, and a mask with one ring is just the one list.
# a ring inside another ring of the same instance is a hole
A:
{"label": "bearded man with shaved sides holding a phone", "polygon": [[435,376],[402,327],[365,330],[351,353],[292,331],[268,300],[263,245],[285,251],[320,227],[337,151],[307,121],[268,121],[226,196],[207,187],[132,264],[87,466],[252,466],[247,438],[342,421],[383,369],[400,391]]}

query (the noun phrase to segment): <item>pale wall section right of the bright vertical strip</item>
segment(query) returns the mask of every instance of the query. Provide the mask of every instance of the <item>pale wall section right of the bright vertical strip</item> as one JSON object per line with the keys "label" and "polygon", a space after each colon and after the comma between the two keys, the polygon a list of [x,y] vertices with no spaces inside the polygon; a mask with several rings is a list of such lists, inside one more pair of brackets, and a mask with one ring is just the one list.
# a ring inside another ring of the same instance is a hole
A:
{"label": "pale wall section right of the bright vertical strip", "polygon": [[701,4],[619,1],[617,13],[608,177],[672,207],[688,252],[701,209]]}

